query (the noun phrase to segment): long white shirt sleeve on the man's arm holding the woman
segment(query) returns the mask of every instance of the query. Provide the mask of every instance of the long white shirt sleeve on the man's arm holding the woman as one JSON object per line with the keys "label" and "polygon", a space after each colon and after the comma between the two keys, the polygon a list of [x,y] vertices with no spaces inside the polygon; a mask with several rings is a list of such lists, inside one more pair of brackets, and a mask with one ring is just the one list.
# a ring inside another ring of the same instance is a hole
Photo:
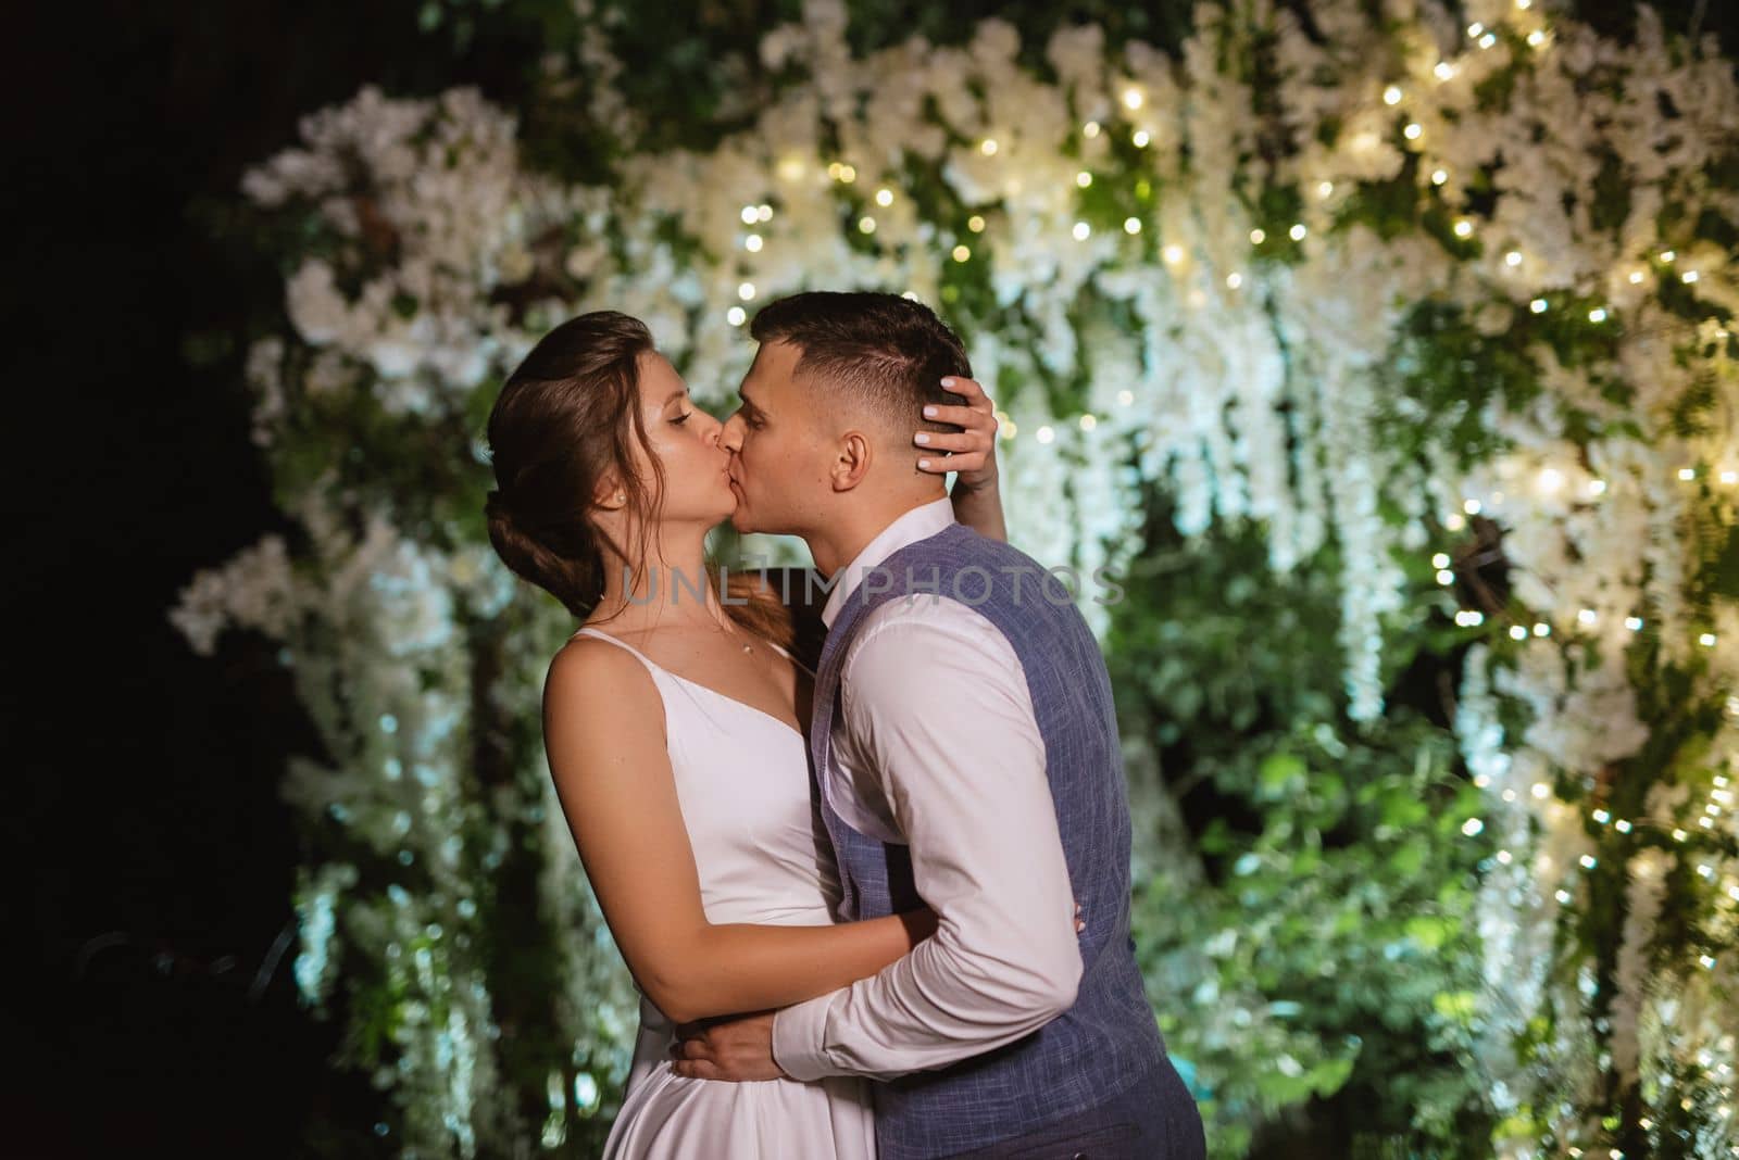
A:
{"label": "long white shirt sleeve on the man's arm holding the woman", "polygon": [[889,601],[842,672],[842,785],[911,849],[932,938],[878,974],[774,1016],[800,1080],[894,1078],[1043,1026],[1075,1002],[1080,939],[1045,747],[1007,637],[944,597]]}

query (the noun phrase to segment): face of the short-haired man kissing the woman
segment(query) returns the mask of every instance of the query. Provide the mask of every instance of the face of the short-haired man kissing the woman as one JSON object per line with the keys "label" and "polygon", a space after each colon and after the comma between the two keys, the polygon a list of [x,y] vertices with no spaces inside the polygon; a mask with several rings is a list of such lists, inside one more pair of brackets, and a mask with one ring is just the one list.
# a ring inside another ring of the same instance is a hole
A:
{"label": "face of the short-haired man kissing the woman", "polygon": [[743,406],[725,420],[737,531],[802,535],[821,511],[828,446],[809,392],[793,382],[802,354],[790,342],[762,344],[737,389]]}

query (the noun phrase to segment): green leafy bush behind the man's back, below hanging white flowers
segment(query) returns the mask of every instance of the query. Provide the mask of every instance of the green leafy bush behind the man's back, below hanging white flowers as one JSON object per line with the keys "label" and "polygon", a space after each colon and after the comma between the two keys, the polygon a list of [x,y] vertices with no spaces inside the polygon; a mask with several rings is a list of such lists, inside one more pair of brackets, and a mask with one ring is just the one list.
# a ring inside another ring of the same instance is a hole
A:
{"label": "green leafy bush behind the man's back, below hanging white flowers", "polygon": [[1261,552],[1250,530],[1179,544],[1160,507],[1108,639],[1123,733],[1151,740],[1196,837],[1136,894],[1169,1047],[1217,1157],[1301,1115],[1332,1155],[1483,1157],[1466,933],[1487,842],[1462,834],[1480,794],[1405,689],[1351,728],[1329,693],[1334,571],[1268,578]]}

